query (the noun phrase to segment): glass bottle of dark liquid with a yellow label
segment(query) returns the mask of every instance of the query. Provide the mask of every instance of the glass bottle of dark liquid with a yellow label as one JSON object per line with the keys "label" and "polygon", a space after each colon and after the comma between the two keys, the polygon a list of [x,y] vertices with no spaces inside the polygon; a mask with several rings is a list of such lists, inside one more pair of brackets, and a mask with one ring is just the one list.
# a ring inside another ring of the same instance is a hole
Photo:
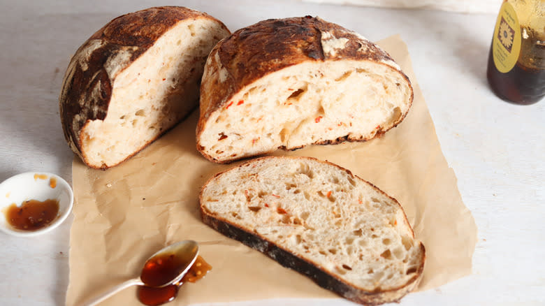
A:
{"label": "glass bottle of dark liquid with a yellow label", "polygon": [[532,104],[545,96],[545,0],[504,0],[486,76],[505,101]]}

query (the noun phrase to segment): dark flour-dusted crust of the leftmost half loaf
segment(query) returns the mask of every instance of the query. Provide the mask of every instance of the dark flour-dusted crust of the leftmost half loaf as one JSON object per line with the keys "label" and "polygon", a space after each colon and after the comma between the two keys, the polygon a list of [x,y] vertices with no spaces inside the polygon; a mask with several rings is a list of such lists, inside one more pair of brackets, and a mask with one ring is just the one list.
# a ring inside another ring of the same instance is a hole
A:
{"label": "dark flour-dusted crust of the leftmost half loaf", "polygon": [[[126,57],[128,60],[117,71],[119,73],[178,22],[203,17],[217,21],[228,31],[219,20],[205,13],[180,6],[162,6],[119,16],[96,31],[78,48],[64,76],[59,108],[64,138],[85,163],[87,161],[81,149],[80,131],[87,122],[103,120],[108,113],[116,76],[108,75],[108,59],[117,54],[129,54]],[[85,67],[82,66],[82,59]]]}

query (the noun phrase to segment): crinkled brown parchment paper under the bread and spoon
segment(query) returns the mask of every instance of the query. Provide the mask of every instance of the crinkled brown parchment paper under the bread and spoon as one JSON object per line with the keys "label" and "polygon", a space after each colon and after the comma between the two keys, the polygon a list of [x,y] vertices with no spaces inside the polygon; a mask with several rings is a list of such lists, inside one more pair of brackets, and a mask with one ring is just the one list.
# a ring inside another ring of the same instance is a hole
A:
{"label": "crinkled brown parchment paper under the bread and spoon", "polygon": [[[398,199],[416,237],[426,246],[419,290],[471,273],[477,227],[439,147],[435,128],[398,36],[380,41],[409,75],[414,103],[409,115],[382,138],[366,143],[310,146],[276,155],[314,156],[350,169]],[[206,160],[195,149],[198,111],[129,161],[92,170],[73,161],[75,205],[70,237],[66,305],[140,274],[145,259],[179,240],[196,240],[212,271],[186,284],[171,305],[336,298],[310,279],[263,254],[225,238],[201,222],[198,192],[209,177],[233,167]],[[126,289],[101,305],[140,305]]]}

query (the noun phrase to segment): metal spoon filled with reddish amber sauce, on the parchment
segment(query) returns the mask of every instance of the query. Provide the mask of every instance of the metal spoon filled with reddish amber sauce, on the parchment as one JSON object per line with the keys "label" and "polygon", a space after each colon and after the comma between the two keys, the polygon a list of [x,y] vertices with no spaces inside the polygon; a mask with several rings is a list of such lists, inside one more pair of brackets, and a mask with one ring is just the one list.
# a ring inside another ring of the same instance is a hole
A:
{"label": "metal spoon filled with reddish amber sauce, on the parchment", "polygon": [[[126,282],[109,289],[101,293],[99,296],[88,300],[85,306],[93,306],[101,303],[115,293],[122,291],[130,286],[152,286],[152,287],[164,287],[170,284],[180,282],[180,279],[184,277],[191,265],[195,262],[198,255],[197,242],[193,240],[184,240],[176,242],[173,245],[169,245],[161,249],[159,252],[153,254],[144,264],[142,274],[134,279],[129,279]],[[161,278],[154,277],[148,270],[153,268],[153,265],[161,263],[163,258],[174,258],[174,265],[169,267],[167,275],[161,275]]]}

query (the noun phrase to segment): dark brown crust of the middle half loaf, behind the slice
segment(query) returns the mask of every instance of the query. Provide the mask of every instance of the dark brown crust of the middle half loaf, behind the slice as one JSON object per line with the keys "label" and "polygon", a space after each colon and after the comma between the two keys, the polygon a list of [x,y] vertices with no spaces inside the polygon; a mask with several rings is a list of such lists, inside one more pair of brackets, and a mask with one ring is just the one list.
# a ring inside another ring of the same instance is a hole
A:
{"label": "dark brown crust of the middle half loaf, behind the slice", "polygon": [[[321,36],[324,33],[333,34],[335,38],[347,38],[344,48],[336,50],[334,54],[324,53]],[[219,57],[219,62],[216,61]],[[197,150],[206,159],[215,163],[230,163],[248,156],[237,156],[233,159],[219,161],[206,154],[199,145],[199,138],[205,123],[215,111],[221,111],[231,97],[244,87],[252,84],[264,76],[279,71],[282,68],[301,64],[305,61],[338,61],[338,60],[373,61],[384,64],[397,70],[402,78],[407,80],[411,89],[409,108],[414,93],[412,85],[405,73],[398,68],[385,64],[392,61],[392,57],[362,36],[349,31],[338,24],[326,22],[319,17],[292,17],[286,19],[263,20],[249,27],[235,31],[231,36],[217,43],[210,52],[205,66],[205,75],[201,84],[201,115],[197,124]],[[219,70],[226,69],[226,80],[219,84]],[[208,73],[207,73],[208,71]],[[407,108],[407,111],[408,109]],[[400,118],[391,126],[384,126],[377,130],[375,136],[380,136],[389,129],[397,126],[407,115]],[[344,141],[366,141],[372,138],[354,138],[351,135],[335,140],[324,140],[312,145],[329,145]],[[279,147],[284,150],[296,148]],[[265,153],[263,153],[265,154]]]}

